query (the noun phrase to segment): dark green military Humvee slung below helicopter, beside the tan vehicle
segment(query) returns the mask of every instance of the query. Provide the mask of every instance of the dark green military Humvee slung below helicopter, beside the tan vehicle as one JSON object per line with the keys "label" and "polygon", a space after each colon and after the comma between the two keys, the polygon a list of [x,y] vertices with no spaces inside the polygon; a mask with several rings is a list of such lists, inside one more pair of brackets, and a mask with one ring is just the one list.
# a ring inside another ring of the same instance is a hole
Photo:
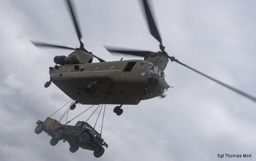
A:
{"label": "dark green military Humvee slung below helicopter, beside the tan vehicle", "polygon": [[59,124],[57,129],[54,137],[56,140],[69,138],[78,145],[77,149],[80,146],[83,149],[93,150],[93,155],[97,158],[101,157],[105,151],[102,146],[108,148],[108,144],[101,138],[101,135],[87,122],[78,121],[75,126]]}

